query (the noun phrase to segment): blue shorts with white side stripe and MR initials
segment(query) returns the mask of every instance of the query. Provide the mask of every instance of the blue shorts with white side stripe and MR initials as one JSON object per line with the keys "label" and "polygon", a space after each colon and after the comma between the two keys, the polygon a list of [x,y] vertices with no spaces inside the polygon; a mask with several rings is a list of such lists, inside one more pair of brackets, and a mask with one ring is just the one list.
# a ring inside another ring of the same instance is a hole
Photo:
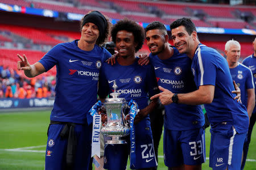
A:
{"label": "blue shorts with white side stripe and MR initials", "polygon": [[225,131],[210,130],[210,163],[213,169],[229,170],[241,167],[243,142],[246,133],[238,134],[234,127]]}

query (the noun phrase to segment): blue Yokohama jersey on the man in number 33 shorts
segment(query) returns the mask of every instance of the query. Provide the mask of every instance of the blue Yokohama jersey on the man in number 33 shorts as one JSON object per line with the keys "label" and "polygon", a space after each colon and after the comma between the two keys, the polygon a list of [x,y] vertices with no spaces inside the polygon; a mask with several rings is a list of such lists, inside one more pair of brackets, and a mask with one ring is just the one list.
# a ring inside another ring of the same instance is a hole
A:
{"label": "blue Yokohama jersey on the man in number 33 shorts", "polygon": [[[191,73],[191,59],[180,54],[176,48],[168,59],[150,54],[158,85],[173,93],[188,93],[196,90]],[[191,130],[204,125],[204,114],[200,105],[169,104],[164,106],[164,128],[170,130]]]}

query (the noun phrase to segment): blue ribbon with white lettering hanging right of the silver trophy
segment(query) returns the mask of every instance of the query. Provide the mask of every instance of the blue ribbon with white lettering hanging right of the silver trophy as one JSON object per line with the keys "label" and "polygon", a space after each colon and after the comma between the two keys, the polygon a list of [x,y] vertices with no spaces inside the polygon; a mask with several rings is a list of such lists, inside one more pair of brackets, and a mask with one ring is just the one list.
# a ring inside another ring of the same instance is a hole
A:
{"label": "blue ribbon with white lettering hanging right of the silver trophy", "polygon": [[130,100],[130,168],[134,167],[136,164],[136,154],[135,154],[135,129],[134,129],[134,118],[136,114],[139,112],[138,105],[134,100]]}

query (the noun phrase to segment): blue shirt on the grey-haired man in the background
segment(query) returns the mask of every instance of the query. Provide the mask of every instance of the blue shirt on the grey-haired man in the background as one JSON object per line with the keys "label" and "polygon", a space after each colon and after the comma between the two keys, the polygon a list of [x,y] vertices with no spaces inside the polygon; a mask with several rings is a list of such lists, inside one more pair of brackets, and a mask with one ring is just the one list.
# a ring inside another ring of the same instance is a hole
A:
{"label": "blue shirt on the grey-haired man in the background", "polygon": [[253,74],[245,65],[238,62],[238,65],[229,69],[232,79],[236,81],[241,90],[242,104],[247,106],[247,89],[254,88]]}

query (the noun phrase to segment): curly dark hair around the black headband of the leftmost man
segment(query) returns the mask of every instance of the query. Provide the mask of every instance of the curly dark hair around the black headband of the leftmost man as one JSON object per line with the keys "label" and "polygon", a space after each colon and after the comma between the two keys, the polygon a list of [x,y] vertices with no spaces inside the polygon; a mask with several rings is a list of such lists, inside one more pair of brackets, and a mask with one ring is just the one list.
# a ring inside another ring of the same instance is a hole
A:
{"label": "curly dark hair around the black headband of the leftmost man", "polygon": [[[89,11],[87,14],[90,14],[90,12],[93,12],[93,11]],[[86,14],[85,14],[86,15]],[[84,15],[84,16],[85,16]],[[104,14],[102,14],[102,15],[104,15]],[[98,39],[97,39],[97,41],[96,41],[96,44],[98,45],[98,46],[101,46],[101,45],[103,45],[107,40],[108,40],[108,38],[109,38],[109,36],[110,36],[110,29],[112,28],[112,23],[109,21],[109,18],[108,18],[108,16],[106,16],[106,15],[104,15],[105,16],[105,18],[106,18],[106,22],[107,22],[107,24],[106,24],[106,29],[105,29],[105,32],[104,32],[104,34],[102,35],[102,36],[99,36],[98,37]],[[80,31],[82,31],[82,22],[83,22],[83,20],[84,20],[84,17],[80,20]]]}

